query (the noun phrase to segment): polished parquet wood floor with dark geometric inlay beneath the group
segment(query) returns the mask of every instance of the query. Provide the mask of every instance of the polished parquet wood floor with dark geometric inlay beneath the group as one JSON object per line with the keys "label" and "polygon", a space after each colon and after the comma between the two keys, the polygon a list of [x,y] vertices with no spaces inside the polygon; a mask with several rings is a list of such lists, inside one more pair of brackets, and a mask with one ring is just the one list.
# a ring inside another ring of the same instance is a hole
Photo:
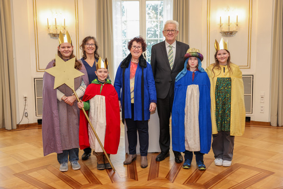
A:
{"label": "polished parquet wood floor with dark geometric inlay beneath the group", "polygon": [[[97,170],[96,157],[79,161],[80,170],[69,163],[67,172],[59,171],[55,153],[43,157],[41,128],[0,131],[0,188],[2,189],[283,189],[283,128],[246,124],[242,137],[235,138],[233,164],[214,165],[213,152],[204,155],[205,171],[191,169],[170,157],[156,162],[158,153],[148,154],[148,167],[141,158],[124,166],[124,128],[118,154],[111,155],[116,168]],[[83,151],[80,150],[80,158]]]}

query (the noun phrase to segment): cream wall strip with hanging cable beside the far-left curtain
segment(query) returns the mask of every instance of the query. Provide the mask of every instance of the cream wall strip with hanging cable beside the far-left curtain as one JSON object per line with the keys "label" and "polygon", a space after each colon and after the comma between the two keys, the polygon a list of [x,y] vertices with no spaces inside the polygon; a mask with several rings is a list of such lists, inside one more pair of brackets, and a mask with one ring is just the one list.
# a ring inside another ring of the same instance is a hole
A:
{"label": "cream wall strip with hanging cable beside the far-left curtain", "polygon": [[[35,123],[35,100],[34,100],[34,86],[33,76],[36,68],[34,52],[35,43],[32,39],[33,30],[33,8],[31,0],[13,0],[12,11],[14,17],[14,39],[15,39],[15,55],[16,62],[16,82],[17,82],[17,97],[19,104],[17,105],[17,123],[23,114],[24,99],[23,95],[27,95],[28,119],[23,118],[20,124]],[[31,13],[31,14],[30,14]],[[33,43],[32,43],[33,42]],[[33,56],[31,56],[33,55]]]}

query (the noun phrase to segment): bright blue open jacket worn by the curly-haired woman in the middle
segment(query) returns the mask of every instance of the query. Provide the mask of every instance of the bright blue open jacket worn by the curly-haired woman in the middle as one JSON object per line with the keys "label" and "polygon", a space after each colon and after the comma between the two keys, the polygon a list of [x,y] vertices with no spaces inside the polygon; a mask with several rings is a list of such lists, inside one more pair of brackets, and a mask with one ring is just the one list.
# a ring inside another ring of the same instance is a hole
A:
{"label": "bright blue open jacket worn by the curly-haired woman in the middle", "polygon": [[[125,107],[124,114],[125,119],[132,118],[131,112],[131,94],[130,94],[130,64],[125,68]],[[122,84],[123,84],[123,68],[121,64],[118,67],[114,87],[118,93],[119,100],[122,104]],[[135,75],[135,87],[134,87],[134,120],[142,121],[142,111],[144,112],[144,120],[149,120],[150,112],[149,105],[150,103],[156,103],[156,88],[153,78],[152,68],[149,63],[146,62],[146,67],[143,68],[143,91],[144,91],[144,109],[142,110],[142,67],[138,64],[136,75]]]}

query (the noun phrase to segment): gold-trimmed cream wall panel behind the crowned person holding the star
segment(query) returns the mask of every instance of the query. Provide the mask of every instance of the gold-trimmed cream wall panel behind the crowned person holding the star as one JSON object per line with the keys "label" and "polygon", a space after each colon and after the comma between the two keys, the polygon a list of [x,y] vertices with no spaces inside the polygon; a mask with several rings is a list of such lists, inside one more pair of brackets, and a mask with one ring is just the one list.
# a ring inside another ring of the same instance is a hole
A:
{"label": "gold-trimmed cream wall panel behind the crowned person holding the star", "polygon": [[36,71],[43,72],[47,63],[57,54],[58,40],[51,39],[48,35],[47,18],[49,24],[54,18],[57,18],[58,22],[63,20],[59,19],[60,17],[65,19],[67,30],[72,37],[74,54],[79,58],[78,0],[68,1],[68,3],[65,0],[33,0],[33,11]]}

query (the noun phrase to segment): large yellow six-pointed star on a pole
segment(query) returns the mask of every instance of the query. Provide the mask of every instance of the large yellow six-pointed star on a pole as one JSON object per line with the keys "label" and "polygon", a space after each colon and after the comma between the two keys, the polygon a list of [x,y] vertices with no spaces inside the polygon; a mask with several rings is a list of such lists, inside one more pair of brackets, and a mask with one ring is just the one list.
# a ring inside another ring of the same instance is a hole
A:
{"label": "large yellow six-pointed star on a pole", "polygon": [[55,77],[54,89],[62,84],[66,84],[73,91],[75,90],[75,78],[84,75],[84,73],[81,73],[79,70],[75,69],[75,59],[76,58],[72,58],[65,62],[58,55],[56,55],[56,65],[45,70],[47,73]]}

